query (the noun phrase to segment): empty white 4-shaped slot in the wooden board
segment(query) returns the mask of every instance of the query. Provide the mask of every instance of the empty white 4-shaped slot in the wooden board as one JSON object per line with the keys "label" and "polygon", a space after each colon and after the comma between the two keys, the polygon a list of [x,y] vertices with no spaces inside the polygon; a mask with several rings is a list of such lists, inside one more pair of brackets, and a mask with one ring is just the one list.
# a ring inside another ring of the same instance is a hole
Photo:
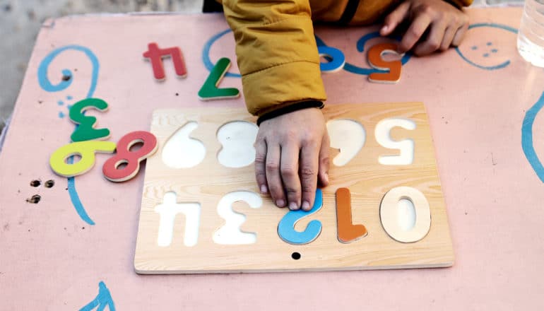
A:
{"label": "empty white 4-shaped slot in the wooden board", "polygon": [[160,215],[157,244],[160,247],[172,244],[176,216],[183,213],[185,215],[183,244],[188,247],[196,245],[199,240],[200,211],[199,203],[177,203],[175,192],[165,193],[162,204],[155,206],[155,213]]}

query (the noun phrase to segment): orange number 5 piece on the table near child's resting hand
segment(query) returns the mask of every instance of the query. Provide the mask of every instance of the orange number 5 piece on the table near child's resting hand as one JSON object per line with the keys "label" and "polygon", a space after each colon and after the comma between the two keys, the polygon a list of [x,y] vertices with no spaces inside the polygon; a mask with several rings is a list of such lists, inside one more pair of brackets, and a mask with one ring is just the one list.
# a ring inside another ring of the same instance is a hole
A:
{"label": "orange number 5 piece on the table near child's resting hand", "polygon": [[368,50],[368,64],[375,69],[389,70],[387,73],[374,72],[368,75],[368,80],[378,83],[397,83],[401,80],[402,62],[400,60],[385,61],[382,57],[386,53],[397,54],[398,45],[394,43],[380,43]]}

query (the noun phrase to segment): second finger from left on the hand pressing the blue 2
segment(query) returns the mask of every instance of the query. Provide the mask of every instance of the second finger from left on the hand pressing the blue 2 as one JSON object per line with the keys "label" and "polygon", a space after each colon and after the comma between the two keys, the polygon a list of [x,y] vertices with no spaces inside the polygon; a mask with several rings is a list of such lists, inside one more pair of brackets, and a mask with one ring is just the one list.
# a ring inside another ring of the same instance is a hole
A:
{"label": "second finger from left on the hand pressing the blue 2", "polygon": [[285,194],[283,193],[283,184],[280,176],[280,144],[270,143],[266,145],[266,181],[268,182],[268,191],[278,207],[285,206]]}

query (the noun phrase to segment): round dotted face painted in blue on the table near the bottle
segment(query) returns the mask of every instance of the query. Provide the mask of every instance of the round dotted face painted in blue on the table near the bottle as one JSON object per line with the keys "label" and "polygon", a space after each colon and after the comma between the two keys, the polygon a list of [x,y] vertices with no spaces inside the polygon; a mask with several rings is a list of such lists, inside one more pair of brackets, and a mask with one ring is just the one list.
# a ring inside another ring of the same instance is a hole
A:
{"label": "round dotted face painted in blue on the table near the bottle", "polygon": [[507,25],[473,24],[456,51],[464,61],[479,69],[503,69],[512,61],[512,55],[517,56],[516,34],[517,30]]}

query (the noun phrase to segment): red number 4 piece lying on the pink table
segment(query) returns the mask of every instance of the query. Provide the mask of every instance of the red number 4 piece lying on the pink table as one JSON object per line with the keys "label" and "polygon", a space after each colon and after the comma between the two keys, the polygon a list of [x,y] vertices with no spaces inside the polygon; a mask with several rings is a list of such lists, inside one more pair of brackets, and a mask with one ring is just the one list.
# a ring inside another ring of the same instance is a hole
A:
{"label": "red number 4 piece lying on the pink table", "polygon": [[185,66],[182,50],[179,49],[179,47],[160,49],[157,43],[152,42],[148,44],[148,51],[143,53],[143,57],[151,61],[153,76],[155,76],[155,79],[158,81],[164,81],[166,78],[165,66],[162,59],[167,57],[172,57],[174,69],[179,78],[185,78],[187,76],[187,67]]}

